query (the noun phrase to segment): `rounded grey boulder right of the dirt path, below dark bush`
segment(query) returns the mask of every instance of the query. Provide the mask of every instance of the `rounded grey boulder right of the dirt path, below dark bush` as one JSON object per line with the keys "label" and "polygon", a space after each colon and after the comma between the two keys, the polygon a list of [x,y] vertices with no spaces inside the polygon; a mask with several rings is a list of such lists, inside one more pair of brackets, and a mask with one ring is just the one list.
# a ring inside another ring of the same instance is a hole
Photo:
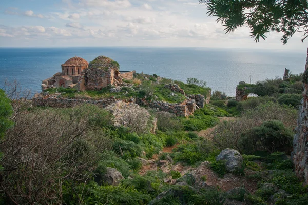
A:
{"label": "rounded grey boulder right of the dirt path, below dark bush", "polygon": [[226,170],[228,172],[234,172],[241,167],[244,159],[237,150],[227,148],[221,151],[221,153],[216,157],[216,161],[219,160],[225,160]]}

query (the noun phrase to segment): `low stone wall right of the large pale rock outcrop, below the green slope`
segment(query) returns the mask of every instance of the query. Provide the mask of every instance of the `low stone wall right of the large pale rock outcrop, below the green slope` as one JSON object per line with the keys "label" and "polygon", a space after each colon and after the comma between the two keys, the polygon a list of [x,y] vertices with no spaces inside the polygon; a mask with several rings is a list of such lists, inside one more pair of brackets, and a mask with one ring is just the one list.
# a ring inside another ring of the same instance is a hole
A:
{"label": "low stone wall right of the large pale rock outcrop, below the green slope", "polygon": [[[190,114],[188,106],[178,103],[167,103],[164,101],[153,101],[149,103],[151,108],[155,108],[160,111],[169,112],[177,116],[186,117]],[[194,106],[194,105],[190,105]],[[196,104],[195,104],[196,107]]]}

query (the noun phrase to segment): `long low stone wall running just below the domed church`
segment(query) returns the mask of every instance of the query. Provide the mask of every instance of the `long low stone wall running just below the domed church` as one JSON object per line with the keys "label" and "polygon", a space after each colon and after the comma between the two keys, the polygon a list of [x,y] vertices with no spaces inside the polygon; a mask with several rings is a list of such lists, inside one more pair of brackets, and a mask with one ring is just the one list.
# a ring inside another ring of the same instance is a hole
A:
{"label": "long low stone wall running just below the domed church", "polygon": [[32,105],[33,106],[48,106],[52,108],[73,108],[75,106],[83,104],[92,104],[100,108],[105,108],[108,105],[114,103],[117,99],[108,98],[102,100],[90,100],[90,99],[69,99],[69,98],[58,98],[58,97],[33,97]]}

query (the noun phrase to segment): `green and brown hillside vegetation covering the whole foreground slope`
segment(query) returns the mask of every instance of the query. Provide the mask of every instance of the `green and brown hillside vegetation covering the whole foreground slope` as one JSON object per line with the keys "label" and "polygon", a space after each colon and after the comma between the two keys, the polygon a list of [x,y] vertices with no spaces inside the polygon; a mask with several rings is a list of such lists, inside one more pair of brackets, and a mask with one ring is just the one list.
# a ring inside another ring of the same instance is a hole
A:
{"label": "green and brown hillside vegetation covering the whole foreground slope", "polygon": [[[151,92],[162,100],[182,100],[179,93],[179,98],[171,97],[155,84],[157,76],[147,76],[150,83],[141,77],[132,80],[134,91],[125,93],[146,97]],[[187,94],[208,92],[203,85],[177,84]],[[67,97],[110,94],[63,91]],[[306,204],[307,187],[293,173],[290,160],[297,109],[279,100],[285,96],[297,102],[293,94],[275,92],[234,103],[215,92],[211,104],[188,118],[148,109],[148,124],[157,118],[153,134],[150,126],[133,127],[138,126],[134,118],[129,126],[115,127],[114,116],[93,105],[32,107],[0,92],[1,203]],[[208,128],[211,131],[202,136]],[[226,148],[244,158],[232,173],[225,161],[216,160]],[[208,174],[196,175],[197,170]],[[221,186],[210,184],[213,178]],[[226,182],[233,178],[245,183]]]}

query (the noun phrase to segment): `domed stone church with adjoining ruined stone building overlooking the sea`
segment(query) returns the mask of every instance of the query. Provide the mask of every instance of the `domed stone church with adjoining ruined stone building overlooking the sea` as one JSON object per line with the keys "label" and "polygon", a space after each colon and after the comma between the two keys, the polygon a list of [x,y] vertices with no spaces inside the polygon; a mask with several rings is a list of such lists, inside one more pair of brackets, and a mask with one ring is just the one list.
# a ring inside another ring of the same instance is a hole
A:
{"label": "domed stone church with adjoining ruined stone building overlooking the sea", "polygon": [[72,57],[61,65],[62,72],[42,81],[42,90],[70,87],[80,91],[101,90],[118,86],[123,79],[132,79],[135,71],[120,71],[120,65],[106,56],[98,56],[90,64],[81,57]]}

